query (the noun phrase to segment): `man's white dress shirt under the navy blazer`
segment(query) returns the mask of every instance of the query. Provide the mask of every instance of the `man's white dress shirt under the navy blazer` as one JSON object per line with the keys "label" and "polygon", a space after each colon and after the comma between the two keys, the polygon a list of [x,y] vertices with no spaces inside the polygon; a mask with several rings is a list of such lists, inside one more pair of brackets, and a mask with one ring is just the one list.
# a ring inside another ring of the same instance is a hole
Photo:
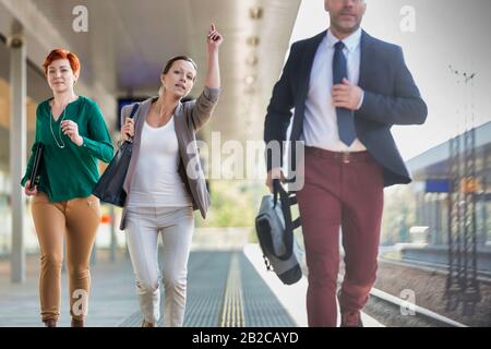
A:
{"label": "man's white dress shirt under the navy blazer", "polygon": [[[306,100],[302,140],[307,146],[314,146],[331,152],[362,152],[367,148],[356,139],[348,147],[339,140],[336,108],[331,96],[333,89],[334,45],[339,41],[331,31],[322,39],[315,53],[310,74],[309,92]],[[345,48],[348,80],[358,85],[360,77],[361,28],[343,40]],[[358,108],[363,103],[361,97]]]}

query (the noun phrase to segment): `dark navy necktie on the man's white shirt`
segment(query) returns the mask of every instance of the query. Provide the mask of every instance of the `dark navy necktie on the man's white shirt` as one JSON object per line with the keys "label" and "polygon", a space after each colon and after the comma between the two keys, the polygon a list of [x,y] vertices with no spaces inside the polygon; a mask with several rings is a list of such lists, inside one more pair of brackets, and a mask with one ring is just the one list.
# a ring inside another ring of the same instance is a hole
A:
{"label": "dark navy necktie on the man's white shirt", "polygon": [[[346,57],[345,53],[343,53],[345,44],[343,44],[343,41],[337,41],[334,47],[333,84],[336,85],[343,83],[343,77],[348,79],[348,71],[346,68]],[[347,146],[350,146],[357,137],[352,111],[346,108],[336,108],[336,115],[339,140]]]}

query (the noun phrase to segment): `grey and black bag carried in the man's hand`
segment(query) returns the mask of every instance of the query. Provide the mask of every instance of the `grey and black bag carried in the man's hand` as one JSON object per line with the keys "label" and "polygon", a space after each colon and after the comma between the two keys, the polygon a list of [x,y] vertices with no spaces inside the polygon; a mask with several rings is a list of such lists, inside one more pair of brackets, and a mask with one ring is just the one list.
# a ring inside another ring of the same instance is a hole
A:
{"label": "grey and black bag carried in the man's hand", "polygon": [[287,193],[279,180],[273,181],[273,195],[262,198],[255,231],[267,270],[275,272],[284,284],[292,285],[302,277],[301,250],[294,237],[294,230],[300,227],[300,218],[292,221],[290,210],[290,206],[297,204],[297,197]]}

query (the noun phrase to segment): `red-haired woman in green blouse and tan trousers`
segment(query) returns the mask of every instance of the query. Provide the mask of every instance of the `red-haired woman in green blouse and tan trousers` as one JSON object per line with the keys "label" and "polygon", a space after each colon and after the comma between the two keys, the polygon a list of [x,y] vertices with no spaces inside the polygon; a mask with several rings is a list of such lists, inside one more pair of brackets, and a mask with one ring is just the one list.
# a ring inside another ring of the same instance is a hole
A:
{"label": "red-haired woman in green blouse and tan trousers", "polygon": [[61,264],[65,240],[72,327],[83,327],[91,275],[88,263],[100,206],[92,190],[99,179],[97,159],[112,158],[112,142],[97,104],[77,96],[79,58],[52,50],[43,64],[52,98],[36,111],[34,149],[44,145],[39,183],[31,185],[34,155],[21,183],[34,195],[32,214],[40,248],[39,297],[43,322],[55,327],[60,316]]}

